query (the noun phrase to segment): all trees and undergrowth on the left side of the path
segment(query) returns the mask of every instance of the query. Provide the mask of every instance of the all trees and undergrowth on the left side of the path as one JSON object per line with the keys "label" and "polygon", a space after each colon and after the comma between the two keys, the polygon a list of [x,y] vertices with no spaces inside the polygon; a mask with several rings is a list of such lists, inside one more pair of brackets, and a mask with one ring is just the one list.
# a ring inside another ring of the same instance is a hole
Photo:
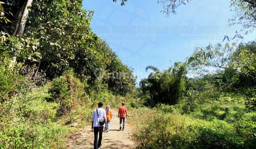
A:
{"label": "all trees and undergrowth on the left side of the path", "polygon": [[65,148],[98,101],[132,99],[135,77],[91,31],[81,0],[29,2],[0,3],[0,148]]}

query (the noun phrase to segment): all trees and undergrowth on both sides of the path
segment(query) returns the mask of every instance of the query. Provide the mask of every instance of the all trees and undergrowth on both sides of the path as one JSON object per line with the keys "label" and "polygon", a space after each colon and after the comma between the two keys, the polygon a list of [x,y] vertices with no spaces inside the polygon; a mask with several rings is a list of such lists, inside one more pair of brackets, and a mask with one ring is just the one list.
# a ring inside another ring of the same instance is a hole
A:
{"label": "all trees and undergrowth on both sides of the path", "polygon": [[[255,1],[231,4],[254,29]],[[135,88],[133,69],[91,31],[94,12],[81,6],[0,0],[0,148],[65,148],[98,101],[126,103],[138,148],[255,147],[254,41],[239,42],[237,32],[235,42],[225,36],[227,44],[198,47],[166,70],[148,66]]]}

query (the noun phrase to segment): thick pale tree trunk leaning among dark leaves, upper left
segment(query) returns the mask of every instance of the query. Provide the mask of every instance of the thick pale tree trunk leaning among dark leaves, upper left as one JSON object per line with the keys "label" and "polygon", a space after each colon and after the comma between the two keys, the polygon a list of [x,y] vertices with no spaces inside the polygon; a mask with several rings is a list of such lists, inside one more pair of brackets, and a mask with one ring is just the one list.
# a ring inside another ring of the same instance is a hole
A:
{"label": "thick pale tree trunk leaning among dark leaves, upper left", "polygon": [[24,29],[25,29],[25,25],[27,22],[27,17],[28,17],[28,7],[32,4],[33,0],[27,0],[27,3],[23,9],[23,13],[22,13],[22,17],[21,17],[21,21],[20,24],[18,26],[18,31],[16,35],[19,35],[20,37],[22,37]]}

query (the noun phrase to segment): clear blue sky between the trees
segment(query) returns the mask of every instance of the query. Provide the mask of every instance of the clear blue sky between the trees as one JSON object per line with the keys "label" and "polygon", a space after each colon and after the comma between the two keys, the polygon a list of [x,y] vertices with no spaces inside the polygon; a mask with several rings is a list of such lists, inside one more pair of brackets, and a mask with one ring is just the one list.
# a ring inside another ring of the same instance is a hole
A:
{"label": "clear blue sky between the trees", "polygon": [[[146,66],[167,69],[184,61],[196,46],[222,42],[224,35],[233,37],[241,28],[227,26],[233,15],[229,0],[192,0],[169,17],[160,13],[156,0],[128,0],[125,6],[112,0],[84,0],[83,4],[83,9],[95,11],[92,30],[134,68],[137,86],[148,76]],[[255,40],[255,33],[241,33],[244,42]]]}

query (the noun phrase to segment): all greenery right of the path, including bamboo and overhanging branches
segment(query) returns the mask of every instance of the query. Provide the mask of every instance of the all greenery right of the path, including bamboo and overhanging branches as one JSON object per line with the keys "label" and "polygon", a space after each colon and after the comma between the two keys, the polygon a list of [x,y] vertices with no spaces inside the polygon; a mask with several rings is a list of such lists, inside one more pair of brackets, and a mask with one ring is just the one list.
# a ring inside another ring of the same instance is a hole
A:
{"label": "all greenery right of the path, including bamboo and overhanging branches", "polygon": [[[168,16],[184,2],[159,4]],[[255,14],[247,16],[255,13],[255,4],[231,0],[236,13],[232,23],[241,24],[246,33],[255,29]],[[138,148],[255,147],[256,43],[242,39],[238,32],[233,38],[225,35],[226,44],[197,47],[185,62],[167,70],[146,67],[151,73],[138,92],[153,109],[140,109],[134,118]],[[214,71],[206,71],[208,67]],[[188,78],[188,73],[196,77]]]}

